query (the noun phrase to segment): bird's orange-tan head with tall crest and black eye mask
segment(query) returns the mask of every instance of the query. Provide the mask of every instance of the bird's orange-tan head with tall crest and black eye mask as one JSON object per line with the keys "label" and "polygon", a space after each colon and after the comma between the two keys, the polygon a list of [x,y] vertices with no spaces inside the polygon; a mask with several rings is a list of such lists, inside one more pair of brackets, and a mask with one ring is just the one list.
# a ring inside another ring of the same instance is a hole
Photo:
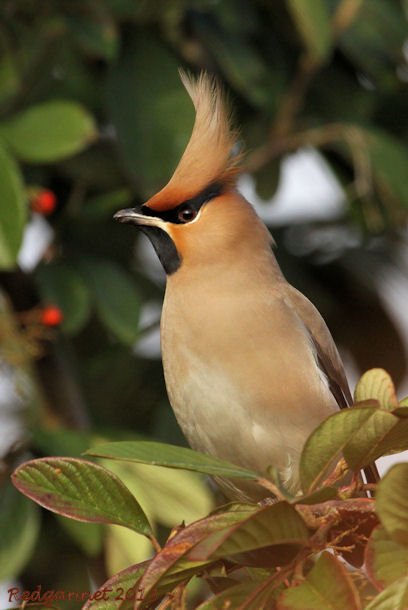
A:
{"label": "bird's orange-tan head with tall crest and black eye mask", "polygon": [[161,191],[114,216],[146,233],[168,275],[236,253],[251,236],[270,244],[265,227],[235,189],[237,134],[220,86],[205,73],[197,80],[181,73],[181,79],[196,111],[183,156]]}

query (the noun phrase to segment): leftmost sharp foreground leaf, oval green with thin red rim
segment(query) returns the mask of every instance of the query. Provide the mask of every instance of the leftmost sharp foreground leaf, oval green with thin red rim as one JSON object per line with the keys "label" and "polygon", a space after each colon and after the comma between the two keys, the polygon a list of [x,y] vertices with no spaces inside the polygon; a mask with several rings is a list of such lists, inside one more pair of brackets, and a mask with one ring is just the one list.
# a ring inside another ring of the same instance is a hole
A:
{"label": "leftmost sharp foreground leaf, oval green with thin red rim", "polygon": [[149,535],[136,499],[109,470],[75,458],[40,458],[19,466],[12,481],[49,510],[78,521],[123,525]]}

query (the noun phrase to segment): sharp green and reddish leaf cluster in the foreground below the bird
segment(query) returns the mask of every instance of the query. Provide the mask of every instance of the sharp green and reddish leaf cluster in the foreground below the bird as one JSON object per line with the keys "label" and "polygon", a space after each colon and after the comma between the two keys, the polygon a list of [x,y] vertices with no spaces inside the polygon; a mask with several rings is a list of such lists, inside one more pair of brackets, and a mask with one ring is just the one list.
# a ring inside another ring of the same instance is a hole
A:
{"label": "sharp green and reddish leaf cluster in the foreground below the bird", "polygon": [[[222,506],[189,525],[181,523],[162,547],[137,498],[101,465],[40,458],[18,467],[12,480],[53,512],[122,525],[152,541],[153,557],[110,578],[84,610],[149,609],[159,603],[182,609],[193,578],[213,592],[195,606],[200,610],[404,610],[408,464],[393,466],[377,486],[364,484],[360,470],[373,459],[408,449],[407,401],[398,402],[382,369],[363,375],[355,399],[353,407],[327,418],[307,440],[299,467],[302,492],[296,496],[276,474],[264,477],[187,448],[119,441],[86,451],[104,460],[252,480],[264,488],[269,500]],[[120,599],[118,590],[125,592]]]}

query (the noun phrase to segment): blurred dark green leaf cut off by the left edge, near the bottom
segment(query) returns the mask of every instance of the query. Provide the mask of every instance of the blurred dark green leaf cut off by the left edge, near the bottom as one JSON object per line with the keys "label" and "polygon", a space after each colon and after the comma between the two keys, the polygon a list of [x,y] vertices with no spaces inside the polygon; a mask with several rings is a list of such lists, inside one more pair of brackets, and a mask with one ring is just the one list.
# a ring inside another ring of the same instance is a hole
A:
{"label": "blurred dark green leaf cut off by the left edge, near the bottom", "polygon": [[39,510],[6,482],[0,496],[0,579],[17,578],[30,560],[40,528]]}

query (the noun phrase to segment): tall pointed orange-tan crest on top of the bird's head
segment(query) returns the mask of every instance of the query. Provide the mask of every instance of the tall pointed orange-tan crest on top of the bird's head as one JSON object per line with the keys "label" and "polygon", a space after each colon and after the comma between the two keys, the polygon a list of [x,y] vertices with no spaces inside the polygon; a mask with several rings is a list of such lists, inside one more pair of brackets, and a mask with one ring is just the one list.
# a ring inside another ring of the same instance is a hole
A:
{"label": "tall pointed orange-tan crest on top of the bird's head", "polygon": [[167,185],[146,205],[168,210],[212,183],[231,185],[239,173],[240,155],[233,155],[237,133],[220,85],[202,72],[197,79],[180,71],[196,111],[190,140]]}

